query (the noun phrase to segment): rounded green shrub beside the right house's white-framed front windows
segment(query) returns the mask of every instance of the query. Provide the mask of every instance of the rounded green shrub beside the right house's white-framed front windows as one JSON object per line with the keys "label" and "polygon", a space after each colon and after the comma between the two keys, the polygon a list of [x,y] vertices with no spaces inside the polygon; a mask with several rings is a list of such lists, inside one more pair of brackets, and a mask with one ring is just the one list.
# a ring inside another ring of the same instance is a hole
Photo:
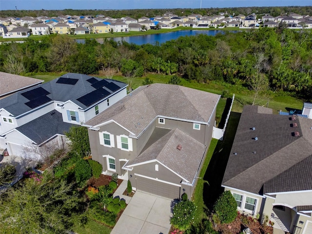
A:
{"label": "rounded green shrub beside the right house's white-framed front windows", "polygon": [[214,205],[221,223],[231,223],[237,216],[237,203],[230,191],[224,191]]}

